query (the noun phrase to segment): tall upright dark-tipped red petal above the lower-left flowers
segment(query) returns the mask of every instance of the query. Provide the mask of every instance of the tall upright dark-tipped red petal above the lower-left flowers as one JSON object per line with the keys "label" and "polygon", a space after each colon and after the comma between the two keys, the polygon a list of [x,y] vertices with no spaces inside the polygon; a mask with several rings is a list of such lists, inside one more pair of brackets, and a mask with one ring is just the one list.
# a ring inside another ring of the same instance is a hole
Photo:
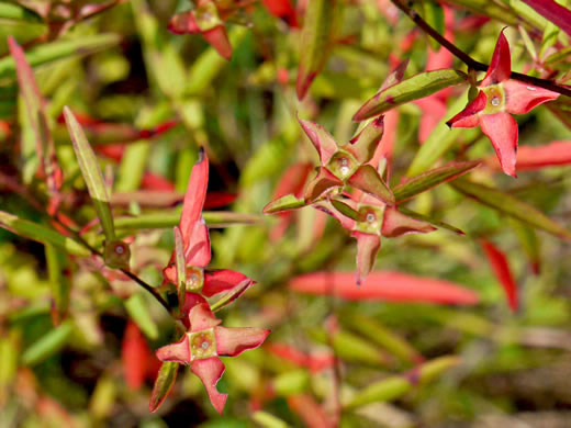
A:
{"label": "tall upright dark-tipped red petal above the lower-left flowers", "polygon": [[190,174],[184,202],[182,203],[182,214],[180,215],[180,232],[187,247],[194,228],[194,223],[200,218],[204,200],[206,199],[206,188],[209,185],[209,158],[201,148],[199,160],[194,164]]}

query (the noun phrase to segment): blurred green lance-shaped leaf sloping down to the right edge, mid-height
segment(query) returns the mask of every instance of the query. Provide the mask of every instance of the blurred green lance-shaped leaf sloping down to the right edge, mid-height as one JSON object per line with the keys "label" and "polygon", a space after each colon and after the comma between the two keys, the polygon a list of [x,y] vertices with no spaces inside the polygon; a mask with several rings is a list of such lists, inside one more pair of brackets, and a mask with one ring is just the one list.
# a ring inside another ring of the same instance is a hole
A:
{"label": "blurred green lance-shaped leaf sloping down to the right edge, mid-height", "polygon": [[517,218],[525,224],[542,229],[561,239],[571,240],[571,232],[552,221],[544,213],[511,194],[501,192],[464,179],[456,180],[451,185],[461,193],[473,198],[505,215]]}

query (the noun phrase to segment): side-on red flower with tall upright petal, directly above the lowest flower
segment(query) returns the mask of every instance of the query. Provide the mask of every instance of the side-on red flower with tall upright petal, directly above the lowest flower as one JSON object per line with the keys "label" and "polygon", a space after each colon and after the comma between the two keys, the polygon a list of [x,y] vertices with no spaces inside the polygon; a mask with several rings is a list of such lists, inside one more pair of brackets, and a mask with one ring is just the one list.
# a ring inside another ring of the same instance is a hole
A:
{"label": "side-on red flower with tall upright petal, directly above the lowest flower", "polygon": [[[209,183],[209,159],[201,149],[199,160],[192,168],[188,190],[182,204],[179,229],[182,236],[182,251],[186,264],[186,295],[198,293],[205,297],[228,292],[232,299],[239,297],[254,281],[243,273],[229,270],[206,270],[212,258],[210,237],[206,223],[202,217],[202,207],[206,198]],[[176,268],[176,251],[172,251],[169,264],[163,270],[165,283],[178,284]],[[184,314],[188,314],[188,305]]]}

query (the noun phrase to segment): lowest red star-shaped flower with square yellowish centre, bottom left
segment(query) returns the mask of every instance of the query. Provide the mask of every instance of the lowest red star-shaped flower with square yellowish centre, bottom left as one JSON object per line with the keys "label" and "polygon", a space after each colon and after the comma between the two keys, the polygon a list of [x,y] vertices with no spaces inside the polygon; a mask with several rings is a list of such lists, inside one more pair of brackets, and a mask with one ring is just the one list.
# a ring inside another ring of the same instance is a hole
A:
{"label": "lowest red star-shaped flower with square yellowish centre, bottom left", "polygon": [[224,373],[224,364],[219,356],[235,357],[264,343],[269,330],[264,328],[220,327],[209,304],[195,304],[189,312],[189,330],[177,343],[157,350],[161,361],[190,364],[190,370],[200,378],[216,412],[222,414],[227,394],[216,390],[216,383]]}

